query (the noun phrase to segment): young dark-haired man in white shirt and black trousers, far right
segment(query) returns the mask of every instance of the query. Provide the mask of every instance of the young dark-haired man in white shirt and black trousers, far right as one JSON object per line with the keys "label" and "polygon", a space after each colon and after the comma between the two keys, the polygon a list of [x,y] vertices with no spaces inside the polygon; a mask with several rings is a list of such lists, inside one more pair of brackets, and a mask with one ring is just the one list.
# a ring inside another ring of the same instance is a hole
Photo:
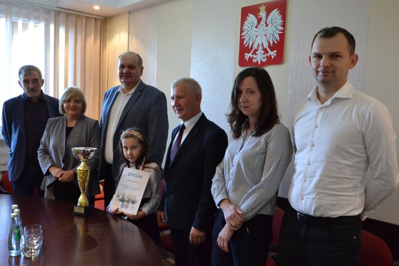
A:
{"label": "young dark-haired man in white shirt and black trousers, far right", "polygon": [[347,30],[315,35],[309,62],[318,86],[295,108],[292,208],[282,222],[279,265],[360,265],[361,220],[398,186],[392,117],[348,82],[357,61]]}

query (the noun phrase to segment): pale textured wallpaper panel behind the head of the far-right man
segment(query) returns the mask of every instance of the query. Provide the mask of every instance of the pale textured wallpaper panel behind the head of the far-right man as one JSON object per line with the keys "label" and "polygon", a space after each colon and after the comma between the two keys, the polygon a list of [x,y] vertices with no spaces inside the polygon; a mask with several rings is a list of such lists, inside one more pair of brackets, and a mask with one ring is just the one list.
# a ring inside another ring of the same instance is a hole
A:
{"label": "pale textured wallpaper panel behind the head of the far-right man", "polygon": [[[291,129],[295,105],[317,85],[311,74],[308,59],[312,39],[321,28],[341,26],[347,28],[354,35],[357,42],[356,53],[359,54],[359,62],[357,67],[350,71],[349,80],[355,88],[363,90],[370,1],[301,0],[290,1],[290,3],[289,10],[292,13],[288,19],[293,23],[288,24],[289,26],[292,25],[290,26],[291,34],[288,36],[291,45],[286,47],[290,48],[292,54],[289,57],[289,70],[286,71],[288,74],[288,91],[284,100],[287,101],[287,109],[285,110],[287,112],[287,126]],[[288,166],[280,186],[279,195],[283,197],[288,195],[294,172],[293,161],[294,159]]]}

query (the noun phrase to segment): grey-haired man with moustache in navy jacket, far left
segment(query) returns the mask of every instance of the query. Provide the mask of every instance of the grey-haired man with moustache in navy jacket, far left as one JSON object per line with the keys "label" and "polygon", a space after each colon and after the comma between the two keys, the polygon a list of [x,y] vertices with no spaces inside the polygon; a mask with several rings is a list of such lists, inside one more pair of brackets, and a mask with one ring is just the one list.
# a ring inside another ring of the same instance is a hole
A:
{"label": "grey-haired man with moustache in navy jacket, far left", "polygon": [[58,99],[41,90],[44,80],[37,67],[21,67],[18,77],[23,94],[5,101],[2,111],[2,134],[10,149],[8,176],[14,195],[33,196],[36,188],[38,195],[43,197],[44,191],[40,189],[43,173],[37,160],[37,149],[47,120],[61,116]]}

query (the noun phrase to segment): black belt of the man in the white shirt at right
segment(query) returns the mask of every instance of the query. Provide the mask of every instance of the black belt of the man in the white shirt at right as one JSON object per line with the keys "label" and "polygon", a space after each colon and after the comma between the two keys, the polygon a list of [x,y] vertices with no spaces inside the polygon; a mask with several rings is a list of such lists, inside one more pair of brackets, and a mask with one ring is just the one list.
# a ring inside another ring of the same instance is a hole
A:
{"label": "black belt of the man in the white shirt at right", "polygon": [[360,214],[354,216],[316,217],[290,208],[299,222],[307,225],[347,225],[361,222]]}

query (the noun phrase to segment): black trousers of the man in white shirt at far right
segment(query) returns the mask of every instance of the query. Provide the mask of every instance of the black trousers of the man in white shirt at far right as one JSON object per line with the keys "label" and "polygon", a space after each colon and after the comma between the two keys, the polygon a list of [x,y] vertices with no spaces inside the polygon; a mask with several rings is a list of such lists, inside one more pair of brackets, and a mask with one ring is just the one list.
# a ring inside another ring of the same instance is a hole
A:
{"label": "black trousers of the man in white shirt at far right", "polygon": [[360,217],[310,218],[309,222],[299,219],[295,210],[286,210],[280,231],[279,266],[360,265]]}

